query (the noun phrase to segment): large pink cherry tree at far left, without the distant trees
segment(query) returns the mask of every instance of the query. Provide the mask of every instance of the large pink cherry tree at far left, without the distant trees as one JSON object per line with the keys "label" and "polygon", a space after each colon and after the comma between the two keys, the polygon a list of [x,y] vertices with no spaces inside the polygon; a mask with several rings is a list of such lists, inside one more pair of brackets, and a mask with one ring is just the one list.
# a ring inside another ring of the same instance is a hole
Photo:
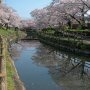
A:
{"label": "large pink cherry tree at far left, without the distant trees", "polygon": [[20,21],[21,18],[13,8],[6,4],[0,4],[0,23],[2,26],[19,27]]}

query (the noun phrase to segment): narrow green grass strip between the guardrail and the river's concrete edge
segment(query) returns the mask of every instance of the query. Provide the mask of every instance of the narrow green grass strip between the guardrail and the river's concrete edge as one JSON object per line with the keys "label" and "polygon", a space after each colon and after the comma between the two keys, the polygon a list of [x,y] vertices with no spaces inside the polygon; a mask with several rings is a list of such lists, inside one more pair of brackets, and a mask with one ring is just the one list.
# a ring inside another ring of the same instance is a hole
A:
{"label": "narrow green grass strip between the guardrail and the river's concrete edge", "polygon": [[3,39],[3,58],[6,60],[6,75],[7,75],[7,90],[15,90],[15,83],[13,80],[13,74],[15,69],[12,65],[11,58],[7,49],[8,43]]}

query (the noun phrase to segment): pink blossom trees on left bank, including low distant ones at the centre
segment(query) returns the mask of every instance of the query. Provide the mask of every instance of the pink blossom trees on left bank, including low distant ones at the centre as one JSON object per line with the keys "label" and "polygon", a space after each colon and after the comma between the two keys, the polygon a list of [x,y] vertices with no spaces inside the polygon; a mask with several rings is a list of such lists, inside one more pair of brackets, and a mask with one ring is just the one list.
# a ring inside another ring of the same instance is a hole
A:
{"label": "pink blossom trees on left bank, including low distant ones at the centre", "polygon": [[35,26],[33,20],[23,20],[17,12],[6,4],[0,4],[0,27],[31,27]]}

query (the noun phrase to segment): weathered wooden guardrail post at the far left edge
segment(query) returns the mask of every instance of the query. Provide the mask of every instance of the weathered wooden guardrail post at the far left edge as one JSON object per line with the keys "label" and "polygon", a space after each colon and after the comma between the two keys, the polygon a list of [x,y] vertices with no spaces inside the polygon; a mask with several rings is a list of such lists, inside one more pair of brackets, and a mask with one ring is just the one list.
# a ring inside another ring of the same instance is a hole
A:
{"label": "weathered wooden guardrail post at the far left edge", "polygon": [[7,90],[4,42],[0,36],[0,90]]}

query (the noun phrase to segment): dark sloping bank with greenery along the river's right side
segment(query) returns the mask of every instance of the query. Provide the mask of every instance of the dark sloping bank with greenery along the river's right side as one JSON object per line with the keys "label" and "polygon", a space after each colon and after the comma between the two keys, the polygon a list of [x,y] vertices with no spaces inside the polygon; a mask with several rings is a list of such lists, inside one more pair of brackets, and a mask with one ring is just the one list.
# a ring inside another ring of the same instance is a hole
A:
{"label": "dark sloping bank with greenery along the river's right side", "polygon": [[[71,34],[70,34],[71,35]],[[65,35],[56,36],[47,33],[38,33],[41,42],[55,47],[58,50],[70,51],[77,54],[90,55],[90,41],[88,39],[79,39],[76,37],[67,37]],[[78,35],[80,37],[80,35]]]}

